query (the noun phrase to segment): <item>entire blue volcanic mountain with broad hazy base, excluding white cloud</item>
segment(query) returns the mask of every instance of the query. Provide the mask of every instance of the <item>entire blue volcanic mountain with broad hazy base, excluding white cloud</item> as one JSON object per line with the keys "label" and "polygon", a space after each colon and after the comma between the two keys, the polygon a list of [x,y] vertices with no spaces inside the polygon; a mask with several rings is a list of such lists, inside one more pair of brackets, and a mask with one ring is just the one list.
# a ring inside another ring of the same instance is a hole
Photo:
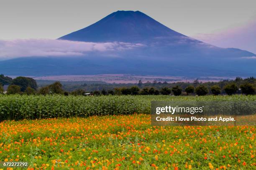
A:
{"label": "entire blue volcanic mountain with broad hazy base, excluding white cloud", "polygon": [[35,56],[0,61],[0,72],[5,75],[256,75],[256,55],[252,52],[195,40],[140,11],[117,11],[59,40],[119,46],[86,52],[79,57]]}

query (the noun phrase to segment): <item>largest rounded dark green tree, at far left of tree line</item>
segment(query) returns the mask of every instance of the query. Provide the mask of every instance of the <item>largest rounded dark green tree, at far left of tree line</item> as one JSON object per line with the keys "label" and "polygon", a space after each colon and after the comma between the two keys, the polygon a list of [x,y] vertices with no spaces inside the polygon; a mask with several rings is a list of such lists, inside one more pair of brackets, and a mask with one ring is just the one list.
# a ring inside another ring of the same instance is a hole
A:
{"label": "largest rounded dark green tree, at far left of tree line", "polygon": [[16,77],[15,79],[13,79],[13,82],[11,85],[18,85],[20,86],[20,91],[25,92],[25,90],[28,87],[33,88],[34,90],[37,89],[37,84],[36,84],[36,80],[34,80],[33,78],[30,77]]}

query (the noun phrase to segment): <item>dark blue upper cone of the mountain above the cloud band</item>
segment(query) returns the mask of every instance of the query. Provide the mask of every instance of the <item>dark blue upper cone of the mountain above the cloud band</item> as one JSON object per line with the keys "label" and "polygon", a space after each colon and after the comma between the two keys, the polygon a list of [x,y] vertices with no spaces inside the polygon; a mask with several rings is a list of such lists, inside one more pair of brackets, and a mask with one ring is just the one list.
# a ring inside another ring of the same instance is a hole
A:
{"label": "dark blue upper cone of the mountain above the cloud band", "polygon": [[[89,42],[141,42],[152,37],[183,37],[140,11],[117,11],[61,40]],[[184,36],[186,37],[186,36]]]}

